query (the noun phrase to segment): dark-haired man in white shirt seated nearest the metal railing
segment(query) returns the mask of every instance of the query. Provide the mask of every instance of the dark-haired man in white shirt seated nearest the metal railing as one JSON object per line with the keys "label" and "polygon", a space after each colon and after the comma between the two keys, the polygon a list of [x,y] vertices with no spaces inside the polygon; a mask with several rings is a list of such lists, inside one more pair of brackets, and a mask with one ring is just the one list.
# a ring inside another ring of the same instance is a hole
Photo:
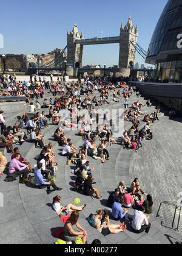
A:
{"label": "dark-haired man in white shirt seated nearest the metal railing", "polygon": [[141,206],[141,210],[136,210],[133,217],[132,229],[135,233],[146,232],[149,233],[151,224],[149,223],[149,216],[144,215],[145,208]]}

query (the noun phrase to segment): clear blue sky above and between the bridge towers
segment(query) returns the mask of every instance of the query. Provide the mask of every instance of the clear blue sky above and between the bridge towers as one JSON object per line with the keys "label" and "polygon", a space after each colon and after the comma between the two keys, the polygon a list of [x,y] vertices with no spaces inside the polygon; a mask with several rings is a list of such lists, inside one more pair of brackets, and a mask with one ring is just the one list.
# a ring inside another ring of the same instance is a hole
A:
{"label": "clear blue sky above and between the bridge towers", "polygon": [[[129,15],[138,23],[138,43],[147,50],[153,30],[167,0],[8,0],[1,3],[0,34],[4,49],[0,54],[46,53],[66,46],[67,29],[73,24],[85,38],[118,36],[121,21]],[[119,45],[84,46],[84,65],[118,65]],[[143,62],[136,56],[136,61]]]}

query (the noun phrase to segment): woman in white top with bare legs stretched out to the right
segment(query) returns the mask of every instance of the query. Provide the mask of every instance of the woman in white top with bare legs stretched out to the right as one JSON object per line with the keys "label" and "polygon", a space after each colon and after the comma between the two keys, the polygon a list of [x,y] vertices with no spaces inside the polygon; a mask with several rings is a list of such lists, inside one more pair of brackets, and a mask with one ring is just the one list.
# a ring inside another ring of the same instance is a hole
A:
{"label": "woman in white top with bare legs stretched out to the right", "polygon": [[53,198],[52,207],[53,207],[53,210],[55,210],[55,212],[56,212],[59,216],[62,216],[62,215],[71,215],[71,213],[72,213],[73,211],[81,212],[81,211],[83,211],[84,208],[86,207],[86,204],[83,205],[83,206],[80,206],[80,207],[76,207],[76,206],[73,205],[73,204],[68,204],[66,207],[63,207],[63,206],[61,206],[60,202],[61,202],[61,196],[55,196],[55,197]]}

